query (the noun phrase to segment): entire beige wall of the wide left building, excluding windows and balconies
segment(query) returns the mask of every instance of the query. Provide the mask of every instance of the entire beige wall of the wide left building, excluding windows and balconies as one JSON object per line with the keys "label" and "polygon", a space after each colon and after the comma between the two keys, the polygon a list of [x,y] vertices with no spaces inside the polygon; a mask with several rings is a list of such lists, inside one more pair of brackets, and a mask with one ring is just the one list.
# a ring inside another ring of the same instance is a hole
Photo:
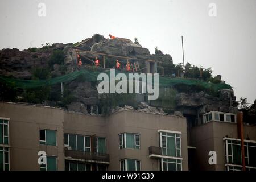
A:
{"label": "entire beige wall of the wide left building, excluding windows and balconies", "polygon": [[[57,156],[64,170],[64,133],[106,137],[109,170],[119,170],[119,160],[141,160],[142,170],[159,170],[159,161],[148,157],[150,146],[159,147],[158,130],[181,132],[183,170],[188,170],[187,124],[184,117],[122,111],[109,117],[64,112],[63,109],[0,102],[0,117],[10,118],[10,170],[39,170],[38,151]],[[39,144],[39,129],[57,130],[57,146]],[[119,150],[120,133],[141,134],[140,150]]]}

